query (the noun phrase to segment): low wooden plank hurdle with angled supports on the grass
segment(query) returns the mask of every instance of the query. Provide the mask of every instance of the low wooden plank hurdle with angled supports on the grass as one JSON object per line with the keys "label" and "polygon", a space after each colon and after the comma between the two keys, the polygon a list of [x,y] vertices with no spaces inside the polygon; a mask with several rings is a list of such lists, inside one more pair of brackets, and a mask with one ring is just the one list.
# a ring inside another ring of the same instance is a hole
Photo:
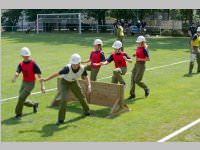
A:
{"label": "low wooden plank hurdle with angled supports on the grass", "polygon": [[[92,92],[89,94],[87,93],[86,81],[79,80],[78,82],[82,87],[83,93],[89,104],[106,106],[111,108],[109,114],[110,117],[130,110],[128,106],[124,103],[124,88],[122,85],[91,81]],[[57,80],[57,88],[58,91],[51,103],[51,106],[58,106],[61,100],[60,78],[58,78]],[[66,101],[77,100],[77,98],[74,96],[71,90],[67,93],[67,95],[68,98],[66,99]]]}

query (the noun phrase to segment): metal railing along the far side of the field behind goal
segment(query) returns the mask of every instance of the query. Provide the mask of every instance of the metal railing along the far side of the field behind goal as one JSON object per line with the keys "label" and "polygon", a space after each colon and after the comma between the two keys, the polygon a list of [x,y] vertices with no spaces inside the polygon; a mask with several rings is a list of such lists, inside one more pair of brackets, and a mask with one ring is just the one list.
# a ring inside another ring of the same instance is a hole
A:
{"label": "metal railing along the far side of the field behind goal", "polygon": [[[79,32],[79,25],[65,25],[65,26],[40,26],[39,32]],[[144,33],[150,35],[161,35],[162,29],[160,26],[146,26],[144,29],[138,29],[136,26],[126,27],[124,32],[132,33]],[[114,33],[113,25],[82,25],[81,31],[83,33]],[[36,32],[36,26],[2,26],[2,32]]]}

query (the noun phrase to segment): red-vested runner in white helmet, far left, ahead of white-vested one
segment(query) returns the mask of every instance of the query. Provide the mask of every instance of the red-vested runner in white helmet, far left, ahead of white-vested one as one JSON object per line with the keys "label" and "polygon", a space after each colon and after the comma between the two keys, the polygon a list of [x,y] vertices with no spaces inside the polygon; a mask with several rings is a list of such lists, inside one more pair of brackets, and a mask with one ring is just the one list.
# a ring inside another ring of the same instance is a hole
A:
{"label": "red-vested runner in white helmet, far left, ahead of white-vested one", "polygon": [[[32,102],[30,100],[26,100],[27,97],[30,95],[31,91],[33,90],[34,86],[35,86],[35,74],[38,75],[38,78],[41,79],[41,70],[39,68],[39,66],[35,63],[34,60],[32,60],[30,58],[31,56],[31,52],[27,47],[23,47],[21,49],[20,52],[23,61],[20,62],[20,64],[17,67],[17,71],[12,79],[12,82],[15,83],[17,77],[19,76],[19,74],[22,72],[23,74],[23,81],[22,81],[22,85],[21,88],[19,90],[19,97],[18,97],[18,102],[17,102],[17,106],[15,108],[15,118],[21,118],[22,117],[22,110],[23,110],[23,105],[28,106],[28,107],[32,107],[33,108],[33,112],[36,113],[37,112],[37,108],[38,108],[38,103],[36,102]],[[45,86],[43,82],[41,83],[41,91],[42,93],[45,92]]]}

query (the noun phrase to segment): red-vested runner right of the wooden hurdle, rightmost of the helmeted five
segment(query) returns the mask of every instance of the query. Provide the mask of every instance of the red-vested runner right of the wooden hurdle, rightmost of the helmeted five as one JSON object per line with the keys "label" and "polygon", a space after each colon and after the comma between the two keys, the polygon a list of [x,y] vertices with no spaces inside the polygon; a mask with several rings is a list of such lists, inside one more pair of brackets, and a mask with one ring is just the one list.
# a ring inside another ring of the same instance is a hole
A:
{"label": "red-vested runner right of the wooden hurdle, rightmost of the helmeted five", "polygon": [[128,99],[135,98],[135,84],[140,86],[145,91],[145,97],[149,96],[149,88],[147,85],[142,82],[142,78],[145,72],[145,63],[149,61],[149,53],[147,51],[147,44],[144,36],[139,36],[137,38],[137,50],[136,54],[133,54],[133,57],[136,57],[135,67],[132,70],[131,76],[131,89],[130,96]]}

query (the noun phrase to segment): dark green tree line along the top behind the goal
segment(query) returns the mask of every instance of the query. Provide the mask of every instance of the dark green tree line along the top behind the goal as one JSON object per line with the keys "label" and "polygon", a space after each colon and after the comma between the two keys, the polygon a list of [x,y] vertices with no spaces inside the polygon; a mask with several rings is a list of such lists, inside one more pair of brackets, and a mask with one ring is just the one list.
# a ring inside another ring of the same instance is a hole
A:
{"label": "dark green tree line along the top behind the goal", "polygon": [[[196,12],[196,13],[195,13]],[[106,17],[137,20],[144,19],[155,13],[166,13],[167,19],[182,20],[183,22],[200,22],[200,9],[10,9],[4,10],[1,16],[3,25],[15,26],[22,14],[27,16],[28,21],[36,21],[37,14],[48,13],[87,13],[98,24],[105,25]]]}

